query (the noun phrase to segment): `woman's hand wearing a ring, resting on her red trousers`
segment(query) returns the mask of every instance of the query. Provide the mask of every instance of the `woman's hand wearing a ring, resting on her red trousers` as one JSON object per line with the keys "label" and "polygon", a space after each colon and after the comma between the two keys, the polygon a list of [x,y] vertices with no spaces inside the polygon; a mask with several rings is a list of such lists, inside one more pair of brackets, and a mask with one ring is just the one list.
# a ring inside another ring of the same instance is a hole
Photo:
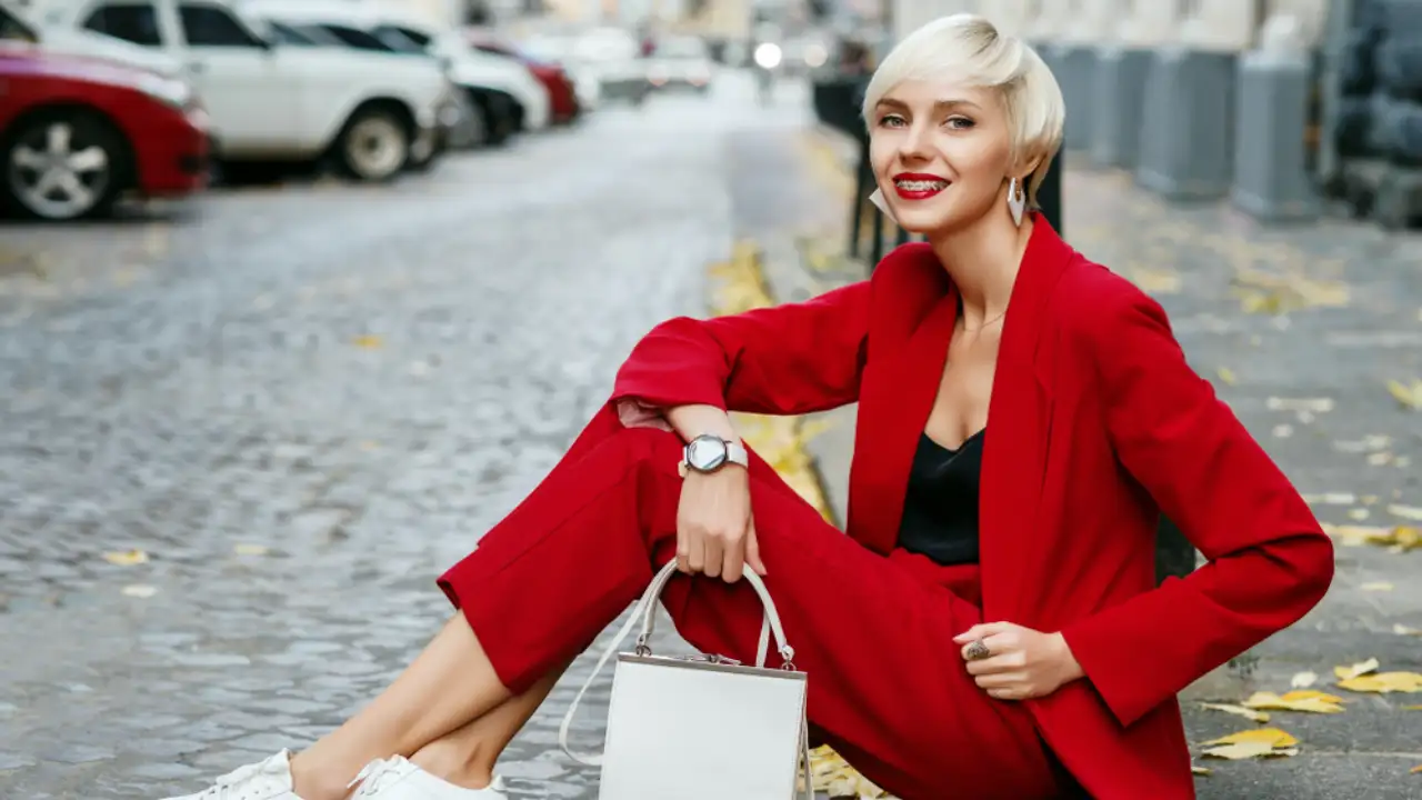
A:
{"label": "woman's hand wearing a ring, resting on her red trousers", "polygon": [[[974,646],[978,639],[987,648],[987,658]],[[1000,700],[1042,698],[1084,676],[1061,633],[1042,633],[1011,622],[985,622],[953,641],[963,645],[963,660],[973,680]]]}

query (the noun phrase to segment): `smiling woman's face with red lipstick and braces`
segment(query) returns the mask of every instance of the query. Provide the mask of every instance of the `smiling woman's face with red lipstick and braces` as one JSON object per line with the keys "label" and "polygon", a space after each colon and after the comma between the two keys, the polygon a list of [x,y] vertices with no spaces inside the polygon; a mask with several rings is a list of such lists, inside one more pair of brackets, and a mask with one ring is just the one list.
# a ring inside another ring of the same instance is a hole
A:
{"label": "smiling woman's face with red lipstick and braces", "polygon": [[995,90],[903,81],[869,125],[875,179],[903,229],[958,229],[998,205],[1005,214],[1011,131]]}

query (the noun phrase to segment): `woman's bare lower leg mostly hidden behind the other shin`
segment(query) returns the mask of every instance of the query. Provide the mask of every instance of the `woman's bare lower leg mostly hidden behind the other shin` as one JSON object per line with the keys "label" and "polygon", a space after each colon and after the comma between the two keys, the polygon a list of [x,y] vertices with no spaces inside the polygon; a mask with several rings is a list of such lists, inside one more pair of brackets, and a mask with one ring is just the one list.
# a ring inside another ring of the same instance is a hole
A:
{"label": "woman's bare lower leg mostly hidden behind the other shin", "polygon": [[465,789],[483,789],[493,781],[493,766],[503,749],[518,736],[538,710],[563,670],[555,669],[528,692],[510,698],[502,706],[469,725],[431,742],[410,760],[429,774]]}

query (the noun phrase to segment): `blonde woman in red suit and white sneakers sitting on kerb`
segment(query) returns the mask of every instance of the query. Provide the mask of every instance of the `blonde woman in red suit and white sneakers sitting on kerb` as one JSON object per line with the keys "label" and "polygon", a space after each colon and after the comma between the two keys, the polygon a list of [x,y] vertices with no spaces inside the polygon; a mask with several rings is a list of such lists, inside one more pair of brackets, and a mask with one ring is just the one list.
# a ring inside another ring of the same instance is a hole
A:
{"label": "blonde woman in red suit and white sneakers sitting on kerb", "polygon": [[[673,558],[701,575],[663,596],[681,633],[742,660],[761,606],[737,584],[765,578],[818,737],[900,797],[1193,796],[1176,692],[1318,602],[1331,544],[1162,309],[1027,212],[1064,117],[1035,53],[937,20],[865,115],[876,202],[927,242],[805,303],[656,327],[439,579],[462,615],[338,730],[199,797],[495,797],[499,750]],[[727,410],[855,401],[843,535],[741,457]],[[1209,564],[1156,588],[1162,510]]]}

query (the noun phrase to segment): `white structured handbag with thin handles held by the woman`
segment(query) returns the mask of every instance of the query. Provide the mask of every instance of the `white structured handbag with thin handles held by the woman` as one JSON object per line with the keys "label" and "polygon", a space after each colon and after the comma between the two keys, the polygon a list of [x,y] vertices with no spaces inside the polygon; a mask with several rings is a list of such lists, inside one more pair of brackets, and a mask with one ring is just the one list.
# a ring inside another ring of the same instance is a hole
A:
{"label": "white structured handbag with thin handles held by the woman", "polygon": [[[657,574],[577,690],[557,732],[563,752],[602,766],[599,800],[813,800],[808,679],[795,669],[795,651],[785,643],[765,584],[745,572],[765,606],[755,666],[715,655],[656,656],[648,646],[653,619],[675,571],[673,561]],[[636,651],[617,653],[603,753],[574,753],[567,735],[577,705],[637,623]],[[771,635],[785,660],[779,669],[765,668]],[[802,760],[805,781],[798,790]]]}

